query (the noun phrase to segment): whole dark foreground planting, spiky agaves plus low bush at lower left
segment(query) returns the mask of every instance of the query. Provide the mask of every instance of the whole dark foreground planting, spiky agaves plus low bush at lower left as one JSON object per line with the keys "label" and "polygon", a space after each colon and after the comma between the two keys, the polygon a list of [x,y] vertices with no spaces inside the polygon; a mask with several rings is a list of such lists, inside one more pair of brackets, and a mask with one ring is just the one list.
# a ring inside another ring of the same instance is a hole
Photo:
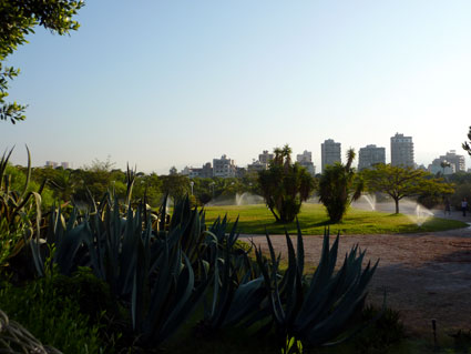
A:
{"label": "whole dark foreground planting, spiky agaves plus low bush at lower left", "polygon": [[[327,232],[307,282],[298,229],[297,254],[287,236],[289,262],[280,277],[273,249],[269,259],[258,249],[254,262],[250,250],[238,246],[237,222],[231,231],[226,218],[207,227],[188,198],[174,205],[172,218],[166,199],[158,212],[145,200],[131,203],[134,176],[127,171],[125,205],[109,192],[90,211],[53,206],[41,227],[35,199],[34,236],[22,236],[40,279],[2,286],[0,309],[41,342],[64,353],[149,352],[190,318],[203,334],[258,328],[310,345],[336,341],[347,330],[375,272],[362,270],[365,253],[352,249],[336,274],[338,240],[329,249]],[[104,335],[104,327],[112,334]]]}

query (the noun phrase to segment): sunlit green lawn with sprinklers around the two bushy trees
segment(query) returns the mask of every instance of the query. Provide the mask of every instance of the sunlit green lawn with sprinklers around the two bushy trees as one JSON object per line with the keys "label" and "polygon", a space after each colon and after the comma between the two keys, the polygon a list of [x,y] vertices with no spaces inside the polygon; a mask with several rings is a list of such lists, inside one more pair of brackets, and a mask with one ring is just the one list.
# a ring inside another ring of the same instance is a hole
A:
{"label": "sunlit green lawn with sprinklers around the two bushy trees", "polygon": [[[287,225],[275,223],[275,218],[265,205],[207,206],[205,211],[208,224],[219,215],[227,214],[231,222],[234,222],[239,215],[238,229],[240,233],[265,234],[266,229],[269,234],[283,234],[285,226],[288,232],[296,232],[296,223]],[[325,226],[328,225],[326,210],[320,204],[303,204],[298,219],[305,235],[322,234]],[[405,214],[389,214],[351,208],[341,223],[330,225],[330,232],[340,231],[341,234],[413,233],[467,226],[468,224],[464,222],[440,218],[432,218],[419,226],[410,216]]]}

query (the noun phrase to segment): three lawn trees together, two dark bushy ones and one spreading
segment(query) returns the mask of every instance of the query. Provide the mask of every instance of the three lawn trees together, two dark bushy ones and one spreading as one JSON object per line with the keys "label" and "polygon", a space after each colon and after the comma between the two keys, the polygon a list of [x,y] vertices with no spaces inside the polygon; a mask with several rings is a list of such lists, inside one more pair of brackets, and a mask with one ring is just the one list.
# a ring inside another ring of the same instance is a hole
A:
{"label": "three lawn trees together, two dark bushy ones and one spreading", "polygon": [[352,149],[348,150],[345,164],[327,166],[318,180],[298,163],[291,162],[288,145],[275,149],[274,153],[269,169],[260,171],[258,180],[262,195],[277,222],[293,222],[301,203],[315,190],[331,223],[340,222],[351,202],[358,200],[362,192],[388,194],[395,201],[396,213],[399,213],[399,202],[405,198],[420,196],[438,202],[454,192],[453,184],[443,179],[407,166],[378,164],[357,173],[352,168],[356,158]]}

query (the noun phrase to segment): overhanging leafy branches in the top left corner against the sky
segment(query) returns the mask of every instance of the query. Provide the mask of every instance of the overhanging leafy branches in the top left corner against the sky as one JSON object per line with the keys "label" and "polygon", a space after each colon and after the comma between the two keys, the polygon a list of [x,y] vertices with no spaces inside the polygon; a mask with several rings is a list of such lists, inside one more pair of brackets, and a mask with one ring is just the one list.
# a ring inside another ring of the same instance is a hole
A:
{"label": "overhanging leafy branches in the top left corner against the sky", "polygon": [[14,124],[25,118],[24,105],[6,101],[9,81],[20,73],[4,65],[6,58],[28,42],[25,37],[37,26],[58,34],[76,30],[79,23],[72,18],[82,6],[82,0],[0,0],[0,120]]}

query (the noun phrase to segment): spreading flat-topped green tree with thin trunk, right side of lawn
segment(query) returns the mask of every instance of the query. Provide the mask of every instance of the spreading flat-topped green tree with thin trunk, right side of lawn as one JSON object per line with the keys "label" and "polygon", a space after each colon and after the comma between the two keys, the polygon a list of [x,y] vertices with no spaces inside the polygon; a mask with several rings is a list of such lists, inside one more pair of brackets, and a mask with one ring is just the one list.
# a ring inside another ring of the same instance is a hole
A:
{"label": "spreading flat-topped green tree with thin trunk, right side of lawn", "polygon": [[368,190],[385,192],[396,203],[399,213],[399,201],[407,196],[452,194],[453,185],[436,179],[430,172],[414,170],[410,166],[392,166],[377,164],[375,169],[362,172]]}

